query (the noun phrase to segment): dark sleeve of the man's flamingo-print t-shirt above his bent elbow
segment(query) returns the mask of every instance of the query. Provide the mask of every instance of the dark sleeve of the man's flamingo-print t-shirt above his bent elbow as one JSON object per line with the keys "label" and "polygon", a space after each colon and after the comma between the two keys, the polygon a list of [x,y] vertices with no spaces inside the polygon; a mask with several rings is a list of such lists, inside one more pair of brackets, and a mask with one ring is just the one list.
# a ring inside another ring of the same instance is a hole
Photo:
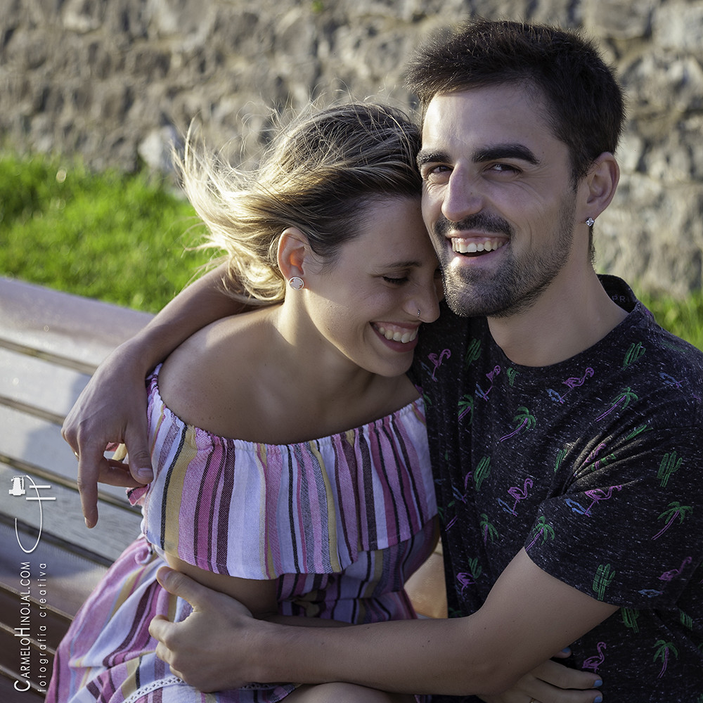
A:
{"label": "dark sleeve of the man's flamingo-print t-shirt above his bent elbow", "polygon": [[572,464],[525,542],[534,563],[621,607],[673,607],[703,559],[703,452],[697,427],[645,430]]}

